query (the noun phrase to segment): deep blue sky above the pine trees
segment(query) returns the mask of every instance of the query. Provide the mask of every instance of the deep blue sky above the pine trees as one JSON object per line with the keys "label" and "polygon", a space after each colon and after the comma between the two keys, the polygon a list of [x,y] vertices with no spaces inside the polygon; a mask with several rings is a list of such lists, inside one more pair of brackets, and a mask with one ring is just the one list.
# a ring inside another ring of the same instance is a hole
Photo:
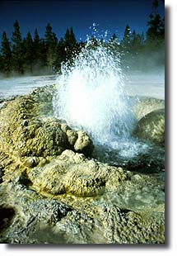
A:
{"label": "deep blue sky above the pine trees", "polygon": [[[50,23],[58,39],[67,28],[73,27],[77,40],[86,40],[86,35],[107,38],[116,34],[119,40],[125,26],[137,33],[147,31],[147,21],[152,0],[0,0],[0,38],[6,31],[12,37],[14,21],[19,21],[22,37],[35,28],[44,37],[45,26]],[[164,16],[164,2],[159,0],[159,12]],[[96,31],[93,30],[93,26]]]}

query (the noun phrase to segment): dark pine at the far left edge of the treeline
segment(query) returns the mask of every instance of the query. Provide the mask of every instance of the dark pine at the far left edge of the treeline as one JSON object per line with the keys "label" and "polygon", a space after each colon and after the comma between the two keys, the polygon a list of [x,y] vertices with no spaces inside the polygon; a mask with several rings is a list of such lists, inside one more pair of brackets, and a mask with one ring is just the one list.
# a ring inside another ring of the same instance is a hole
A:
{"label": "dark pine at the far left edge of the treeline", "polygon": [[2,33],[2,56],[1,56],[1,63],[2,63],[2,73],[5,75],[9,75],[12,71],[12,50],[9,40],[7,39],[7,34],[5,31]]}

